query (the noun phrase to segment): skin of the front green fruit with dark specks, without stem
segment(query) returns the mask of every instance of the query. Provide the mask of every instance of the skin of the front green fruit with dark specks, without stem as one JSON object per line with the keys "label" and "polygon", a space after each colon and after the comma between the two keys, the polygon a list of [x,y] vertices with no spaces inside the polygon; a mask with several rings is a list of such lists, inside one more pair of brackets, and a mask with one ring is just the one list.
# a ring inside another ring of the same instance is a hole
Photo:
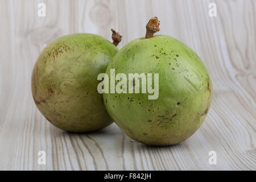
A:
{"label": "skin of the front green fruit with dark specks, without stem", "polygon": [[199,56],[179,40],[165,35],[135,39],[110,61],[109,76],[111,68],[115,75],[125,73],[127,80],[128,73],[159,73],[156,100],[141,92],[104,93],[110,117],[134,140],[150,146],[177,144],[203,123],[212,81]]}

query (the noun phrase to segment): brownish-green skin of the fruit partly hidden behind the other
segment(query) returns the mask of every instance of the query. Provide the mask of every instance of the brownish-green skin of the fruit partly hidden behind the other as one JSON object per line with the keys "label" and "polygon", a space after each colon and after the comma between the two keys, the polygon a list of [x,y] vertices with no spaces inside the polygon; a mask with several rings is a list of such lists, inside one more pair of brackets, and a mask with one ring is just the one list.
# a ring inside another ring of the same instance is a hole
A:
{"label": "brownish-green skin of the fruit partly hidden behind the other", "polygon": [[38,57],[31,88],[40,112],[54,126],[72,132],[104,128],[110,119],[97,92],[97,76],[118,52],[94,34],[72,34],[51,42]]}

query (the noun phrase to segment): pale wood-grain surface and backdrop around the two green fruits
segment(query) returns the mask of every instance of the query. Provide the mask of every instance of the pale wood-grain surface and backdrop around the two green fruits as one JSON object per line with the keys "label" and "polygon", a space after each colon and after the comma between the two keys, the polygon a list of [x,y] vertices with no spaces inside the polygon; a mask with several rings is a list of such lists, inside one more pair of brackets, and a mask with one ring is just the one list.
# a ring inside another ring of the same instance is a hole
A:
{"label": "pale wood-grain surface and backdrop around the two green fruits", "polygon": [[[38,3],[46,3],[46,17]],[[217,17],[208,15],[215,2]],[[0,169],[255,170],[256,1],[0,1]],[[213,82],[213,101],[200,129],[183,143],[148,147],[113,123],[89,134],[52,126],[32,100],[32,67],[53,39],[92,32],[119,48],[144,36],[152,16],[160,32],[191,47]],[[38,151],[46,151],[46,165]],[[217,164],[208,163],[216,151]]]}

